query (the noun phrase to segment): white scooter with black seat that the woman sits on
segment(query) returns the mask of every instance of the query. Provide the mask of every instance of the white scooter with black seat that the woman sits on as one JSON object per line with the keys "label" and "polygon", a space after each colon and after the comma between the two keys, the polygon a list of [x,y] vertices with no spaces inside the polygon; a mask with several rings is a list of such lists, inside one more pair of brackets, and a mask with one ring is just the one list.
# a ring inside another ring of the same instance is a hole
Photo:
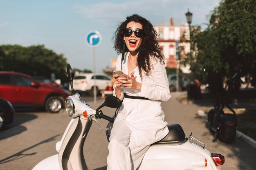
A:
{"label": "white scooter with black seat that the woman sits on", "polygon": [[[74,94],[74,73],[69,64],[67,74]],[[97,118],[114,121],[99,110],[103,106],[119,108],[121,101],[117,97],[108,96],[99,108],[93,110],[88,103],[81,100],[79,93],[67,97],[66,111],[72,119],[61,141],[56,143],[58,154],[39,162],[33,170],[88,170],[83,156],[83,145],[92,121],[97,122]],[[192,132],[186,138],[178,124],[168,125],[168,129],[169,133],[164,139],[150,146],[139,170],[220,170],[219,165],[224,163],[224,156],[210,153],[205,149],[205,144],[192,137]]]}

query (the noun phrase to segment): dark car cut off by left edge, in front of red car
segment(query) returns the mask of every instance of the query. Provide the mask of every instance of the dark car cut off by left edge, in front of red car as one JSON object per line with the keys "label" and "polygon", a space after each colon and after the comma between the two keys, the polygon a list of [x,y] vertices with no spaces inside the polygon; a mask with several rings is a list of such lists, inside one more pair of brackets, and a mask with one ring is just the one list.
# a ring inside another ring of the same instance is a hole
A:
{"label": "dark car cut off by left edge, in front of red car", "polygon": [[4,130],[5,125],[13,122],[14,108],[5,99],[0,98],[0,131]]}

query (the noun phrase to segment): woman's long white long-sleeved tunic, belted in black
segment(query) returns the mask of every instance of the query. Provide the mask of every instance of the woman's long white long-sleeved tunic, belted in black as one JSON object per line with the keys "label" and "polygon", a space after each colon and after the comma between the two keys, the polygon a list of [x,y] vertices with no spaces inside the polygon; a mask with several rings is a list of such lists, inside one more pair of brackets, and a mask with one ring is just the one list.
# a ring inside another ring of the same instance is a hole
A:
{"label": "woman's long white long-sleeved tunic, belted in black", "polygon": [[[128,75],[128,56],[129,52],[126,53],[122,62],[122,71],[126,75]],[[168,133],[167,122],[164,121],[164,112],[161,107],[162,101],[168,101],[171,98],[166,70],[164,63],[156,57],[150,57],[150,63],[153,67],[148,76],[142,71],[142,79],[139,68],[136,67],[133,70],[136,81],[142,84],[141,91],[122,86],[120,100],[123,100],[123,103],[115,119],[115,122],[126,120],[130,130],[137,137],[135,140],[138,146],[153,144]],[[120,70],[120,67],[121,55],[117,58],[116,70]],[[124,93],[150,100],[124,98]],[[116,96],[115,85],[113,95]]]}

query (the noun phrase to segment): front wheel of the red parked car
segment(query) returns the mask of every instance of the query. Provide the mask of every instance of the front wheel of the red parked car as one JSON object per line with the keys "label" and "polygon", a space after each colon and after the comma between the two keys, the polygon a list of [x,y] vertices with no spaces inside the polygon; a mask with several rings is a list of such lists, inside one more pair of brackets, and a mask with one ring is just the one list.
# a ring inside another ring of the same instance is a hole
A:
{"label": "front wheel of the red parked car", "polygon": [[61,110],[63,99],[58,96],[49,97],[45,102],[45,110],[49,113],[58,113]]}

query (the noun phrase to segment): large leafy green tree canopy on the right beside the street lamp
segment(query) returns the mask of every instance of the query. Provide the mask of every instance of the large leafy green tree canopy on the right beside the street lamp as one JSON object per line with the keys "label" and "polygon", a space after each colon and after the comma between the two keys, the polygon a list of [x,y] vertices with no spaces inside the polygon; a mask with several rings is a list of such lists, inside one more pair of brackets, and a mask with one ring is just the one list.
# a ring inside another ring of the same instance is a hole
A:
{"label": "large leafy green tree canopy on the right beside the street lamp", "polygon": [[[220,91],[224,77],[231,78],[236,68],[241,75],[256,78],[256,1],[222,0],[211,15],[209,27],[191,27],[191,53],[183,64],[191,64],[191,71],[201,81],[209,83],[213,92]],[[199,71],[204,68],[202,74]]]}

